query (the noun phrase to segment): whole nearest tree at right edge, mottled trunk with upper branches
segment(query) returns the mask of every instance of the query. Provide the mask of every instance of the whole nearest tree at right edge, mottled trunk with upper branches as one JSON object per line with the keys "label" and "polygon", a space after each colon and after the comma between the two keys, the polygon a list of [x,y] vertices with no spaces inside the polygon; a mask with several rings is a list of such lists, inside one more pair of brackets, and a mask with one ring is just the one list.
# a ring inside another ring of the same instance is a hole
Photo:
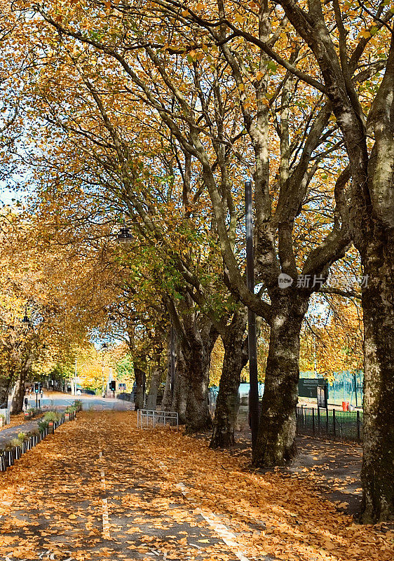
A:
{"label": "whole nearest tree at right edge, mottled trunk with upper branches", "polygon": [[394,511],[390,485],[394,475],[394,14],[386,1],[367,5],[310,0],[301,6],[294,0],[280,0],[276,4],[283,7],[301,44],[313,53],[321,81],[316,74],[299,74],[274,52],[267,37],[249,34],[229,21],[216,25],[228,25],[233,36],[243,36],[323,93],[344,137],[351,172],[351,237],[368,279],[362,287],[362,520],[385,520]]}

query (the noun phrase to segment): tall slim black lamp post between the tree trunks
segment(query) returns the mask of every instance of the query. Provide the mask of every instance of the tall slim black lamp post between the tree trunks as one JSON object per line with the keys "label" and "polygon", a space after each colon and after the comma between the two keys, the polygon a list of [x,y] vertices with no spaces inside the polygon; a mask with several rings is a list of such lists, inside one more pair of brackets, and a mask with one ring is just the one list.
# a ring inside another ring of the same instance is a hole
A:
{"label": "tall slim black lamp post between the tree trunks", "polygon": [[[245,181],[245,227],[246,227],[246,276],[247,288],[254,294],[253,258],[253,207],[252,182]],[[252,448],[256,444],[259,430],[259,380],[257,377],[256,314],[247,310],[247,345],[249,350],[249,416],[252,429]]]}

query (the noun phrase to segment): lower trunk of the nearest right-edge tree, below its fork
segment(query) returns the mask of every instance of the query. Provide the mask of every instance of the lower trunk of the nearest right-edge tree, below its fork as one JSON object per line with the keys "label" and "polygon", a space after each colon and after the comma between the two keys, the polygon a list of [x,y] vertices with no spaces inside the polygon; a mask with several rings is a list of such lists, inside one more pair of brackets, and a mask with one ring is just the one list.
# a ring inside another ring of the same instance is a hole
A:
{"label": "lower trunk of the nearest right-edge tree, below its fork", "polygon": [[[394,212],[394,211],[393,211]],[[374,235],[362,259],[364,312],[362,522],[394,518],[394,236]]]}

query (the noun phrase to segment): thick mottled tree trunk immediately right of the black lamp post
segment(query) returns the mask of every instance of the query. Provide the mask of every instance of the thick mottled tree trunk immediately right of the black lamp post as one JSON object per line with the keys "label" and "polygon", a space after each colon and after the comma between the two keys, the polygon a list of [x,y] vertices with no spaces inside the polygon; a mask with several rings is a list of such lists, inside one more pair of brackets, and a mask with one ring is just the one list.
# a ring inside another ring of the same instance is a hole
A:
{"label": "thick mottled tree trunk immediately right of the black lamp post", "polygon": [[290,288],[273,304],[269,356],[259,432],[253,450],[253,465],[282,466],[296,453],[296,406],[299,381],[299,333],[308,309],[308,297]]}

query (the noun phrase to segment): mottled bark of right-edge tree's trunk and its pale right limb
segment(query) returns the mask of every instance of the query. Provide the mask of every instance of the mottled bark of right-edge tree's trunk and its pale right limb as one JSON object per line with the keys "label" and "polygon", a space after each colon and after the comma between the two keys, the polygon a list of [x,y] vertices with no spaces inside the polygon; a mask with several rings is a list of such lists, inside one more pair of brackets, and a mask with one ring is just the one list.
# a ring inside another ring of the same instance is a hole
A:
{"label": "mottled bark of right-edge tree's trunk and its pale right limb", "polygon": [[[355,245],[368,276],[362,289],[365,350],[361,519],[373,523],[394,520],[393,34],[386,72],[369,121],[375,135],[368,165],[372,205],[366,205],[369,221],[356,231]],[[360,191],[362,187],[360,184]]]}

